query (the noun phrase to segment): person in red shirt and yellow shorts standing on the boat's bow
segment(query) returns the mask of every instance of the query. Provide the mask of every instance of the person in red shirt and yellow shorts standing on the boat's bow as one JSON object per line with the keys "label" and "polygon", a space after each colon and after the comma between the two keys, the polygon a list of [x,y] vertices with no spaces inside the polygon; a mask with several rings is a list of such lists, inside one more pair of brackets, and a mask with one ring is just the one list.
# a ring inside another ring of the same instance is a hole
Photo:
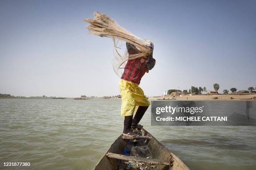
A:
{"label": "person in red shirt and yellow shorts standing on the boat's bow", "polygon": [[[135,55],[141,53],[134,45],[126,42],[128,55]],[[151,50],[154,45],[151,43]],[[138,137],[131,131],[131,128],[141,129],[143,126],[138,124],[144,113],[148,109],[150,102],[144,95],[143,90],[138,85],[140,84],[143,75],[151,70],[156,63],[153,55],[145,57],[138,57],[133,60],[128,60],[123,75],[119,81],[119,90],[122,95],[121,115],[125,117],[123,135],[128,137]],[[136,106],[138,109],[136,115],[133,117],[133,112]]]}

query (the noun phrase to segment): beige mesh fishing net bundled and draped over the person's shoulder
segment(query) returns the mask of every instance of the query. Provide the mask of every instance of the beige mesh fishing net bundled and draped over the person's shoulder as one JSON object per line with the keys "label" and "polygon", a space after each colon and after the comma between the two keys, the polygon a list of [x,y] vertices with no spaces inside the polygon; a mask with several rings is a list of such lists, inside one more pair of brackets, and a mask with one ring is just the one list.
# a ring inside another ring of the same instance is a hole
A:
{"label": "beige mesh fishing net bundled and draped over the person's shoulder", "polygon": [[[153,42],[142,40],[136,35],[133,35],[131,32],[118,25],[118,23],[106,14],[100,14],[96,11],[94,12],[93,19],[84,19],[84,21],[90,23],[87,26],[90,34],[113,39],[114,58],[112,65],[113,70],[119,77],[123,74],[123,69],[127,60],[133,60],[138,57],[147,57],[153,53]],[[126,42],[131,44],[134,51],[139,52],[130,52],[130,54],[128,54]]]}

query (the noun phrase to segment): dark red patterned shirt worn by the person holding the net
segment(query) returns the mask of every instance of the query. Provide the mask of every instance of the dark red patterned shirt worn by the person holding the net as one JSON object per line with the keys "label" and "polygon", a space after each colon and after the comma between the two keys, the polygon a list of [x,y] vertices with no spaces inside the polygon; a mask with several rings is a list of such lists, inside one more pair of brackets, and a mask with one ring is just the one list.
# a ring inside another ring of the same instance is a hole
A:
{"label": "dark red patterned shirt worn by the person holding the net", "polygon": [[[136,50],[128,51],[129,55],[138,54],[138,53],[139,52]],[[148,71],[148,67],[146,65],[147,60],[148,58],[146,57],[139,57],[133,60],[128,60],[125,65],[124,72],[121,79],[140,84],[141,78]]]}

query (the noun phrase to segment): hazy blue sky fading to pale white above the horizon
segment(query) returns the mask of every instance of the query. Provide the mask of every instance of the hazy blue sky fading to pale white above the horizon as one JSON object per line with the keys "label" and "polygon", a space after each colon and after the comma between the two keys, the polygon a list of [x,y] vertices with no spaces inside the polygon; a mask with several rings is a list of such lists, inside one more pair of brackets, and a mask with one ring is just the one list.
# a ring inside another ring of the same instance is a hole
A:
{"label": "hazy blue sky fading to pale white above the horizon", "polygon": [[0,0],[0,93],[118,95],[113,42],[88,35],[82,21],[96,10],[154,42],[146,95],[256,85],[255,0]]}

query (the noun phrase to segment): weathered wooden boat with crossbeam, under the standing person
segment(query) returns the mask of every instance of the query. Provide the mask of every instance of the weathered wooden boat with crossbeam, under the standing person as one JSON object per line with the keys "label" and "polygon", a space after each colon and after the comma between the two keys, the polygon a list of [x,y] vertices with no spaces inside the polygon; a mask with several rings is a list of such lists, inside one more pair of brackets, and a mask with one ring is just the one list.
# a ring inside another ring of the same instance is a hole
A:
{"label": "weathered wooden boat with crossbeam, under the standing person", "polygon": [[131,141],[123,139],[123,136],[120,135],[97,163],[94,170],[118,170],[120,160],[149,163],[154,165],[154,170],[189,170],[182,160],[170,152],[163,144],[159,143],[145,129],[142,128],[141,133],[143,137],[140,137],[140,140],[144,140],[143,142],[152,155],[151,159],[123,155],[123,150]]}

